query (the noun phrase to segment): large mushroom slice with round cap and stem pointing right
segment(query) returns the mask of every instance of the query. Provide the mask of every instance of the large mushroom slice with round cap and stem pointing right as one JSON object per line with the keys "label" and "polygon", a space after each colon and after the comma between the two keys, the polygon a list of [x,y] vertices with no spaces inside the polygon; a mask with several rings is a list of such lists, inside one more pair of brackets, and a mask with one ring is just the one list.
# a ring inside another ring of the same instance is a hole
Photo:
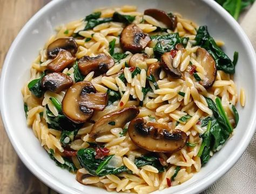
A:
{"label": "large mushroom slice with round cap and stem pointing right", "polygon": [[75,123],[84,123],[92,117],[94,110],[104,110],[107,94],[95,94],[91,82],[82,81],[73,84],[62,100],[62,111]]}

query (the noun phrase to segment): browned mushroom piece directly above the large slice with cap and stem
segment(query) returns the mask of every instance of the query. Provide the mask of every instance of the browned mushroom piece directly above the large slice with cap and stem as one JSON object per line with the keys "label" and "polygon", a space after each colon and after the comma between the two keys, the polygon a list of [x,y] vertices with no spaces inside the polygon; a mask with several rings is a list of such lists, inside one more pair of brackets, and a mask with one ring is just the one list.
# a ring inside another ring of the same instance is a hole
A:
{"label": "browned mushroom piece directly above the large slice with cap and stem", "polygon": [[114,66],[114,60],[111,56],[100,53],[98,56],[83,56],[78,60],[78,67],[83,75],[96,71],[97,74],[104,74]]}

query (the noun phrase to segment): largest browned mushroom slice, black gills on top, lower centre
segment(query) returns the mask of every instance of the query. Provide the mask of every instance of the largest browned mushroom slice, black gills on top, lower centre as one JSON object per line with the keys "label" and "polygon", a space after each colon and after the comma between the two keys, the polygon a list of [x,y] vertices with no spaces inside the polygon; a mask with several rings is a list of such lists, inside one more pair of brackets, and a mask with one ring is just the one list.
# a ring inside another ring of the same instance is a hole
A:
{"label": "largest browned mushroom slice, black gills on top, lower centre", "polygon": [[170,133],[167,125],[146,123],[143,118],[132,120],[128,133],[133,143],[151,152],[176,152],[187,142],[185,132],[176,130]]}

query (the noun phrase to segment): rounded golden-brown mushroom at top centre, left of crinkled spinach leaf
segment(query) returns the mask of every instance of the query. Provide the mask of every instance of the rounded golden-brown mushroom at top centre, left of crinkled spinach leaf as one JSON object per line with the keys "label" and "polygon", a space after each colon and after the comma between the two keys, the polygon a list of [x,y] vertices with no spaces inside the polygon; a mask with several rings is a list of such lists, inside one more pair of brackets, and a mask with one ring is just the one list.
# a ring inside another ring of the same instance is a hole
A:
{"label": "rounded golden-brown mushroom at top centre, left of crinkled spinach leaf", "polygon": [[126,26],[120,35],[120,44],[124,51],[141,52],[150,42],[150,37],[144,34],[135,24]]}

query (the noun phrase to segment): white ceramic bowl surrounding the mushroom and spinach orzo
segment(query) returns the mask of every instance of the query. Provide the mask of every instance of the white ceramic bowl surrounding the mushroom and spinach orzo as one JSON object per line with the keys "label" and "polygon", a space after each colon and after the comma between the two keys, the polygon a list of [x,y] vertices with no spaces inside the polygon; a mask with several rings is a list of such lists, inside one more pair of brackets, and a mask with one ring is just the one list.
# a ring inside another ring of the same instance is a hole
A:
{"label": "white ceramic bowl surrounding the mushroom and spinach orzo", "polygon": [[234,135],[189,181],[155,192],[198,193],[217,181],[238,161],[252,138],[256,121],[254,100],[256,96],[256,58],[253,47],[239,24],[214,1],[56,0],[50,2],[23,27],[6,56],[0,90],[1,113],[5,130],[26,167],[51,188],[60,193],[69,194],[109,193],[103,189],[78,183],[75,175],[55,165],[40,146],[31,128],[26,126],[21,88],[29,79],[29,69],[32,61],[38,55],[39,48],[45,44],[51,34],[55,33],[55,26],[83,18],[95,8],[127,3],[137,5],[140,11],[147,8],[159,8],[179,12],[199,25],[207,25],[210,34],[215,39],[224,40],[224,49],[230,58],[234,51],[239,52],[234,78],[238,91],[240,87],[245,89],[246,106],[242,108],[238,105],[240,120],[234,130]]}

